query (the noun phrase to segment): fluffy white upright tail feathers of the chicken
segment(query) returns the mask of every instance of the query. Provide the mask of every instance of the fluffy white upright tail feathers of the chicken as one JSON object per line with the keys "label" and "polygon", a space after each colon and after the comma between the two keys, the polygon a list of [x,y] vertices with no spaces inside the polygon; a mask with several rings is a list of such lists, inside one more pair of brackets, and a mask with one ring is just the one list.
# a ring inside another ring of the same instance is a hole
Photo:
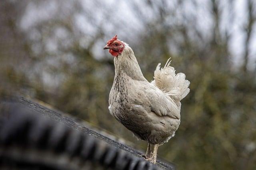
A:
{"label": "fluffy white upright tail feathers of the chicken", "polygon": [[188,95],[190,82],[185,79],[184,73],[175,74],[174,67],[170,64],[170,59],[168,59],[164,68],[161,68],[161,63],[158,63],[154,71],[154,80],[151,83],[172,99],[180,101]]}

